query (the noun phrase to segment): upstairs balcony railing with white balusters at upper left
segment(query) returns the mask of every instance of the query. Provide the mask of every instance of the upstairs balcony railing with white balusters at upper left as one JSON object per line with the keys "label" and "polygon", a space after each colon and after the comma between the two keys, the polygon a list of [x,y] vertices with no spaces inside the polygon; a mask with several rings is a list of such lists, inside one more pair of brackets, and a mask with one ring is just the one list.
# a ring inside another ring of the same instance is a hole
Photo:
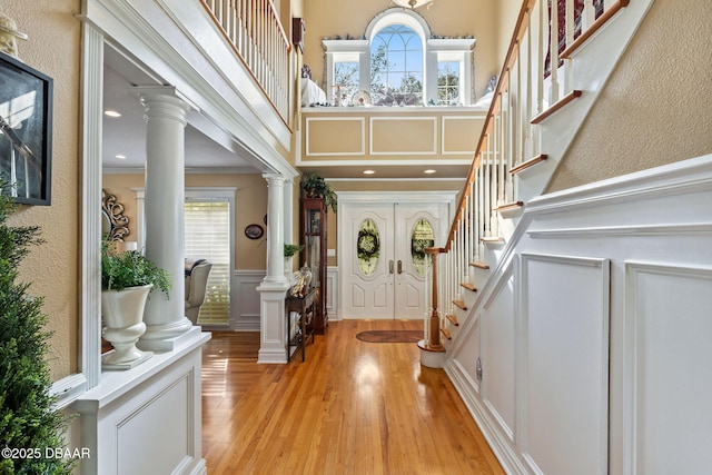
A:
{"label": "upstairs balcony railing with white balusters at upper left", "polygon": [[285,123],[291,44],[271,0],[201,0]]}

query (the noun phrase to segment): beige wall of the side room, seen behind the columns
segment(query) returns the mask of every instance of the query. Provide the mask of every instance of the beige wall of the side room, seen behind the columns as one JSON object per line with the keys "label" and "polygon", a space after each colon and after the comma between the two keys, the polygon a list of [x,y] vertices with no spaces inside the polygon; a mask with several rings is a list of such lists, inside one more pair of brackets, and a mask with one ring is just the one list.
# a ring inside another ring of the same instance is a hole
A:
{"label": "beige wall of the side room, seen behind the columns", "polygon": [[[131,174],[107,174],[102,187],[125,206],[129,218],[129,230],[136,236],[136,194],[131,188],[144,187],[144,176]],[[266,229],[263,239],[249,239],[245,228],[258,224],[266,228],[267,181],[261,175],[186,175],[186,187],[235,187],[235,268],[264,270],[267,267]],[[298,215],[297,215],[298,216]],[[130,239],[129,239],[130,240]]]}

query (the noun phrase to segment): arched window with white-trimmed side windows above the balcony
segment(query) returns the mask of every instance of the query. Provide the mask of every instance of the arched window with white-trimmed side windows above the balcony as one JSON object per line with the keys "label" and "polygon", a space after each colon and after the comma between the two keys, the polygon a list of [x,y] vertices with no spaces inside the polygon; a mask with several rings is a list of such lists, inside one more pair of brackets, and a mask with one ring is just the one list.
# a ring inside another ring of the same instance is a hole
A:
{"label": "arched window with white-trimmed side windows above the balcony", "polygon": [[471,38],[433,38],[423,17],[392,8],[362,39],[324,39],[326,95],[333,106],[469,106]]}

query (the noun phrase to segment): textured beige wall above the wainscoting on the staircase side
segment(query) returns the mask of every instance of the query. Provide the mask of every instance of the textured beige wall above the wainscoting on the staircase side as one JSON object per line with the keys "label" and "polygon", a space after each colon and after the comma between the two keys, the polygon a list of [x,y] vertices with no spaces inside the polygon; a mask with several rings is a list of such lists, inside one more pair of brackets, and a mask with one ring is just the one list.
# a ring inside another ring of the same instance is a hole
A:
{"label": "textured beige wall above the wainscoting on the staircase side", "polygon": [[712,152],[708,0],[654,2],[550,191]]}

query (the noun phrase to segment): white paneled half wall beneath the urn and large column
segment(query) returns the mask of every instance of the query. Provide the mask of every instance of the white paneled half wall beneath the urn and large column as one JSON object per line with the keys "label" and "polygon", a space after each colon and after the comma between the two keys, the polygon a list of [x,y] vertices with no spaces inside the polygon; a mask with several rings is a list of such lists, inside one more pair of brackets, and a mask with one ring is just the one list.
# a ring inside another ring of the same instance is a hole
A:
{"label": "white paneled half wall beneath the urn and large column", "polygon": [[82,474],[206,474],[201,456],[202,345],[199,327],[172,352],[122,372],[103,372],[98,386],[70,408],[90,457]]}

